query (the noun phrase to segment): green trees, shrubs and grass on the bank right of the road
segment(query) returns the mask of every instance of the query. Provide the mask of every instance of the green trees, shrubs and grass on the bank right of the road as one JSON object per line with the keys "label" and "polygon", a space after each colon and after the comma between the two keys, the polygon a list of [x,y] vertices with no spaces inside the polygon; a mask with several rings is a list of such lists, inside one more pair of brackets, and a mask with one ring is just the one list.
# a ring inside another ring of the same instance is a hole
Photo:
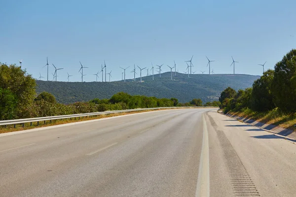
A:
{"label": "green trees, shrubs and grass on the bank right of the road", "polygon": [[223,112],[296,131],[296,49],[254,81],[252,88],[228,87],[219,98]]}

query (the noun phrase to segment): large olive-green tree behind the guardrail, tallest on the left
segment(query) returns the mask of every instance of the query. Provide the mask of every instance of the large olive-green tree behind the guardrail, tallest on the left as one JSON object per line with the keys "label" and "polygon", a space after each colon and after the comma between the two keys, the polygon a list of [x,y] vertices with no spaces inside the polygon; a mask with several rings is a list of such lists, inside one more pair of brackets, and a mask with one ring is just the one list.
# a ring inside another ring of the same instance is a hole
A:
{"label": "large olive-green tree behind the guardrail, tallest on the left", "polygon": [[26,111],[36,96],[35,79],[20,66],[0,63],[0,88],[9,90],[16,99],[16,116],[26,118]]}

